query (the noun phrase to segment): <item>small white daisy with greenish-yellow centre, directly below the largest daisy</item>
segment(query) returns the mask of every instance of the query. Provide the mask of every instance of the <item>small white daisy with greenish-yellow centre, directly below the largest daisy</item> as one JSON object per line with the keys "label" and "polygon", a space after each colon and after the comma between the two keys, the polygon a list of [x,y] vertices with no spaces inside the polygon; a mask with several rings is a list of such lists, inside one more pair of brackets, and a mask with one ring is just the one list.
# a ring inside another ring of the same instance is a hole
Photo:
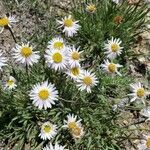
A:
{"label": "small white daisy with greenish-yellow centre, directly below the largest daisy", "polygon": [[39,137],[43,140],[50,140],[55,137],[57,134],[57,126],[51,124],[50,122],[45,122],[41,126],[41,133],[39,134]]}

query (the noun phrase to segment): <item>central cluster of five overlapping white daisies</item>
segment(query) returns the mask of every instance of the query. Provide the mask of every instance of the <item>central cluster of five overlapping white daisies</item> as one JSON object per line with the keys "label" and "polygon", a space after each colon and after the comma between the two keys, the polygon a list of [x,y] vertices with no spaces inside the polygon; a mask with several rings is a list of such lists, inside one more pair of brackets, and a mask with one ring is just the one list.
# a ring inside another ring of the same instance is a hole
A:
{"label": "central cluster of five overlapping white daisies", "polygon": [[48,42],[45,59],[48,67],[67,74],[75,81],[79,90],[90,93],[98,81],[92,70],[83,69],[82,53],[79,47],[69,46],[63,38],[56,37]]}

